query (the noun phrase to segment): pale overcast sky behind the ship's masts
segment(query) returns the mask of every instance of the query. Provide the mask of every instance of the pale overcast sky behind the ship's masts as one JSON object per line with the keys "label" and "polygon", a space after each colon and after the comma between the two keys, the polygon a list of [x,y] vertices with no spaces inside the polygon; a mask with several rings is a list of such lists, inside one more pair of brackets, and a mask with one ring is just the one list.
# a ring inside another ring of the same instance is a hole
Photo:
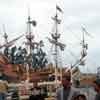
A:
{"label": "pale overcast sky behind the ship's masts", "polygon": [[[60,41],[66,44],[64,52],[60,52],[62,66],[68,67],[79,59],[82,39],[81,26],[84,26],[92,38],[85,35],[88,54],[86,65],[80,66],[80,69],[83,72],[96,72],[100,59],[99,0],[0,0],[0,43],[4,43],[3,33],[5,31],[9,35],[8,40],[27,32],[26,23],[28,9],[30,9],[31,19],[37,22],[37,26],[32,27],[34,40],[42,39],[45,42],[45,50],[49,56],[51,45],[47,37],[50,37],[54,26],[51,17],[55,15],[56,4],[63,10],[63,14],[59,12],[62,20],[59,26]],[[16,44],[22,46],[24,40],[25,37]]]}

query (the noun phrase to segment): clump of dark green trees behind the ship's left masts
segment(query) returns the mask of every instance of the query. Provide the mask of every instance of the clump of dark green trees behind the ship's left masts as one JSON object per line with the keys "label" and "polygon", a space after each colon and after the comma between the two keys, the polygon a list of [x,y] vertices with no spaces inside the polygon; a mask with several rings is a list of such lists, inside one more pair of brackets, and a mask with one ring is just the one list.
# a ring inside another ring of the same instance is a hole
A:
{"label": "clump of dark green trees behind the ship's left masts", "polygon": [[26,48],[20,47],[6,47],[4,49],[4,55],[10,60],[11,64],[28,64],[33,68],[43,68],[48,63],[46,53],[41,47],[36,48],[36,52],[32,49],[32,53],[28,54]]}

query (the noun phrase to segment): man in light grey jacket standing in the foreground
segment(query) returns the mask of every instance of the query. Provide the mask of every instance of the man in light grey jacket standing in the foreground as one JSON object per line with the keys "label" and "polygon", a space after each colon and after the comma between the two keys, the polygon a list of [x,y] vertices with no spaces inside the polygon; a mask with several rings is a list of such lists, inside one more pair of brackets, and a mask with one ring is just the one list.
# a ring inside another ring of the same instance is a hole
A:
{"label": "man in light grey jacket standing in the foreground", "polygon": [[71,72],[65,72],[62,75],[62,87],[56,91],[56,100],[71,100],[78,94],[80,94],[80,91],[74,88],[71,83]]}

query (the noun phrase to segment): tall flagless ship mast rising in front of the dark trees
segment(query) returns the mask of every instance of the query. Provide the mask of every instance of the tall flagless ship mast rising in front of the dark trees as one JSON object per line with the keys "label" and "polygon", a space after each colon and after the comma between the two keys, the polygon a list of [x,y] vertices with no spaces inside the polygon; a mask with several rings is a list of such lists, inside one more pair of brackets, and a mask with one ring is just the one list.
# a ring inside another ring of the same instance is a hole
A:
{"label": "tall flagless ship mast rising in front of the dark trees", "polygon": [[[33,25],[34,27],[36,26],[36,21],[31,20],[30,18],[30,13],[29,13],[29,9],[28,9],[28,21],[27,21],[27,34],[26,34],[26,45],[28,48],[28,55],[30,55],[30,64],[26,66],[26,70],[27,70],[27,80],[29,81],[29,71],[30,69],[32,69],[32,48],[34,48],[34,44],[33,44],[33,39],[34,39],[34,35],[32,35],[32,31],[31,31],[31,25]],[[32,47],[33,46],[33,47]]]}

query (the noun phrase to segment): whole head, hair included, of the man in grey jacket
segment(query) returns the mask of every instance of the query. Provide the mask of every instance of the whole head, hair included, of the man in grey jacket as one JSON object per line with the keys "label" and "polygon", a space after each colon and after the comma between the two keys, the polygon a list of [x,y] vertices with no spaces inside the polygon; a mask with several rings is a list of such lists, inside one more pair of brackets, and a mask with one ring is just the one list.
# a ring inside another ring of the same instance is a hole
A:
{"label": "whole head, hair included, of the man in grey jacket", "polygon": [[62,85],[64,88],[71,86],[71,73],[70,71],[64,72],[62,75]]}

